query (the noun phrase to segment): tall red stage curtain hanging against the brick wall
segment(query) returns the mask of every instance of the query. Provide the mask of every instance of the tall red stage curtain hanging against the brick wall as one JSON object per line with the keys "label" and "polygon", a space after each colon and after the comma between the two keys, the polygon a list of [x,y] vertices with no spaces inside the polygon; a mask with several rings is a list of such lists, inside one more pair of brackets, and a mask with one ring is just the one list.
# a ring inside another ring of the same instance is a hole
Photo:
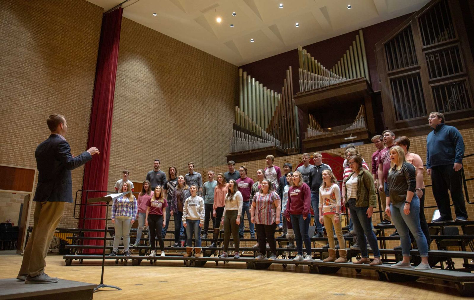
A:
{"label": "tall red stage curtain hanging against the brick wall", "polygon": [[[92,97],[91,120],[89,124],[89,139],[87,147],[95,146],[100,155],[94,156],[89,164],[85,165],[83,190],[107,191],[109,178],[110,135],[112,130],[112,114],[115,92],[115,76],[117,74],[118,45],[120,42],[120,27],[122,24],[122,8],[104,14],[100,32],[99,52]],[[87,198],[102,197],[104,193],[89,193]],[[82,203],[86,203],[86,194],[83,192]],[[97,203],[99,204],[99,203]],[[110,203],[111,204],[111,203]],[[81,207],[80,228],[102,229],[104,220],[89,218],[104,218],[105,207]],[[109,216],[110,217],[110,216]],[[103,236],[102,233],[91,232],[86,236]],[[84,241],[86,242],[86,241]],[[102,241],[91,240],[84,245],[103,245]],[[102,253],[90,251],[89,253]]]}

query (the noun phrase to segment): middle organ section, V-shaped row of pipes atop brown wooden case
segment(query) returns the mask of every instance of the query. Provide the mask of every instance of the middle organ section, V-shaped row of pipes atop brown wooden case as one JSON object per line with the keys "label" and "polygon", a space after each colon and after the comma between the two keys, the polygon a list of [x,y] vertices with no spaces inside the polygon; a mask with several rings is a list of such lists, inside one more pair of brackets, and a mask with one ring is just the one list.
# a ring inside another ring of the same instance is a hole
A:
{"label": "middle organ section, V-shaped row of pipes atop brown wooden case", "polygon": [[313,152],[356,141],[375,133],[372,87],[362,30],[330,69],[298,47],[300,92],[294,99],[307,125],[303,152]]}

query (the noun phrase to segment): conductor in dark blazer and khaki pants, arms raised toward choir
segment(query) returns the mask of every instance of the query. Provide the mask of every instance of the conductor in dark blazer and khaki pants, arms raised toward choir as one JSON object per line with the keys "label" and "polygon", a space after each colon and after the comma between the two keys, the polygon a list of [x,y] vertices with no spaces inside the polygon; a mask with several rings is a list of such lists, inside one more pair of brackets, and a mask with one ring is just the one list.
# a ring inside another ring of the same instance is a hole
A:
{"label": "conductor in dark blazer and khaki pants, arms raised toward choir", "polygon": [[74,157],[64,138],[67,132],[64,116],[51,115],[46,123],[51,135],[35,151],[39,173],[33,199],[36,201],[33,232],[28,239],[17,277],[25,283],[58,282],[57,278],[45,273],[45,257],[56,226],[63,216],[64,204],[73,202],[71,170],[90,161],[92,155],[99,154],[96,147],[91,147]]}

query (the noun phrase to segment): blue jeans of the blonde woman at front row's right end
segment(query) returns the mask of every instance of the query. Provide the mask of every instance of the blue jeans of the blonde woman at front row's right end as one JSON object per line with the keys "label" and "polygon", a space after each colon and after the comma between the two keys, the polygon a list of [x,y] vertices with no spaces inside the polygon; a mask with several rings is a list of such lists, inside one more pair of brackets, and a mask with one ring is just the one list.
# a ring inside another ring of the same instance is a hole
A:
{"label": "blue jeans of the blonde woman at front row's right end", "polygon": [[405,215],[403,207],[405,201],[400,203],[390,203],[390,212],[392,213],[392,221],[400,235],[401,253],[403,256],[410,256],[411,239],[409,230],[413,234],[418,246],[419,256],[428,256],[428,243],[425,234],[421,230],[419,223],[419,198],[415,194],[410,203],[410,213]]}

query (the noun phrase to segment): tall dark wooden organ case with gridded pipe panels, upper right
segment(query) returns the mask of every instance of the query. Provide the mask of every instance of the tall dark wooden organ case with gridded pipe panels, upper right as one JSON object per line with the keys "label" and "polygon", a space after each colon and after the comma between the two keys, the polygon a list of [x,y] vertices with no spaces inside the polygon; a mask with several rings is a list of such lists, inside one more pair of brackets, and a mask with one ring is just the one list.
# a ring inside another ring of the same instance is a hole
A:
{"label": "tall dark wooden organ case with gridded pipe panels, upper right", "polygon": [[375,46],[384,123],[397,135],[426,134],[432,111],[472,127],[474,66],[462,2],[430,1]]}

